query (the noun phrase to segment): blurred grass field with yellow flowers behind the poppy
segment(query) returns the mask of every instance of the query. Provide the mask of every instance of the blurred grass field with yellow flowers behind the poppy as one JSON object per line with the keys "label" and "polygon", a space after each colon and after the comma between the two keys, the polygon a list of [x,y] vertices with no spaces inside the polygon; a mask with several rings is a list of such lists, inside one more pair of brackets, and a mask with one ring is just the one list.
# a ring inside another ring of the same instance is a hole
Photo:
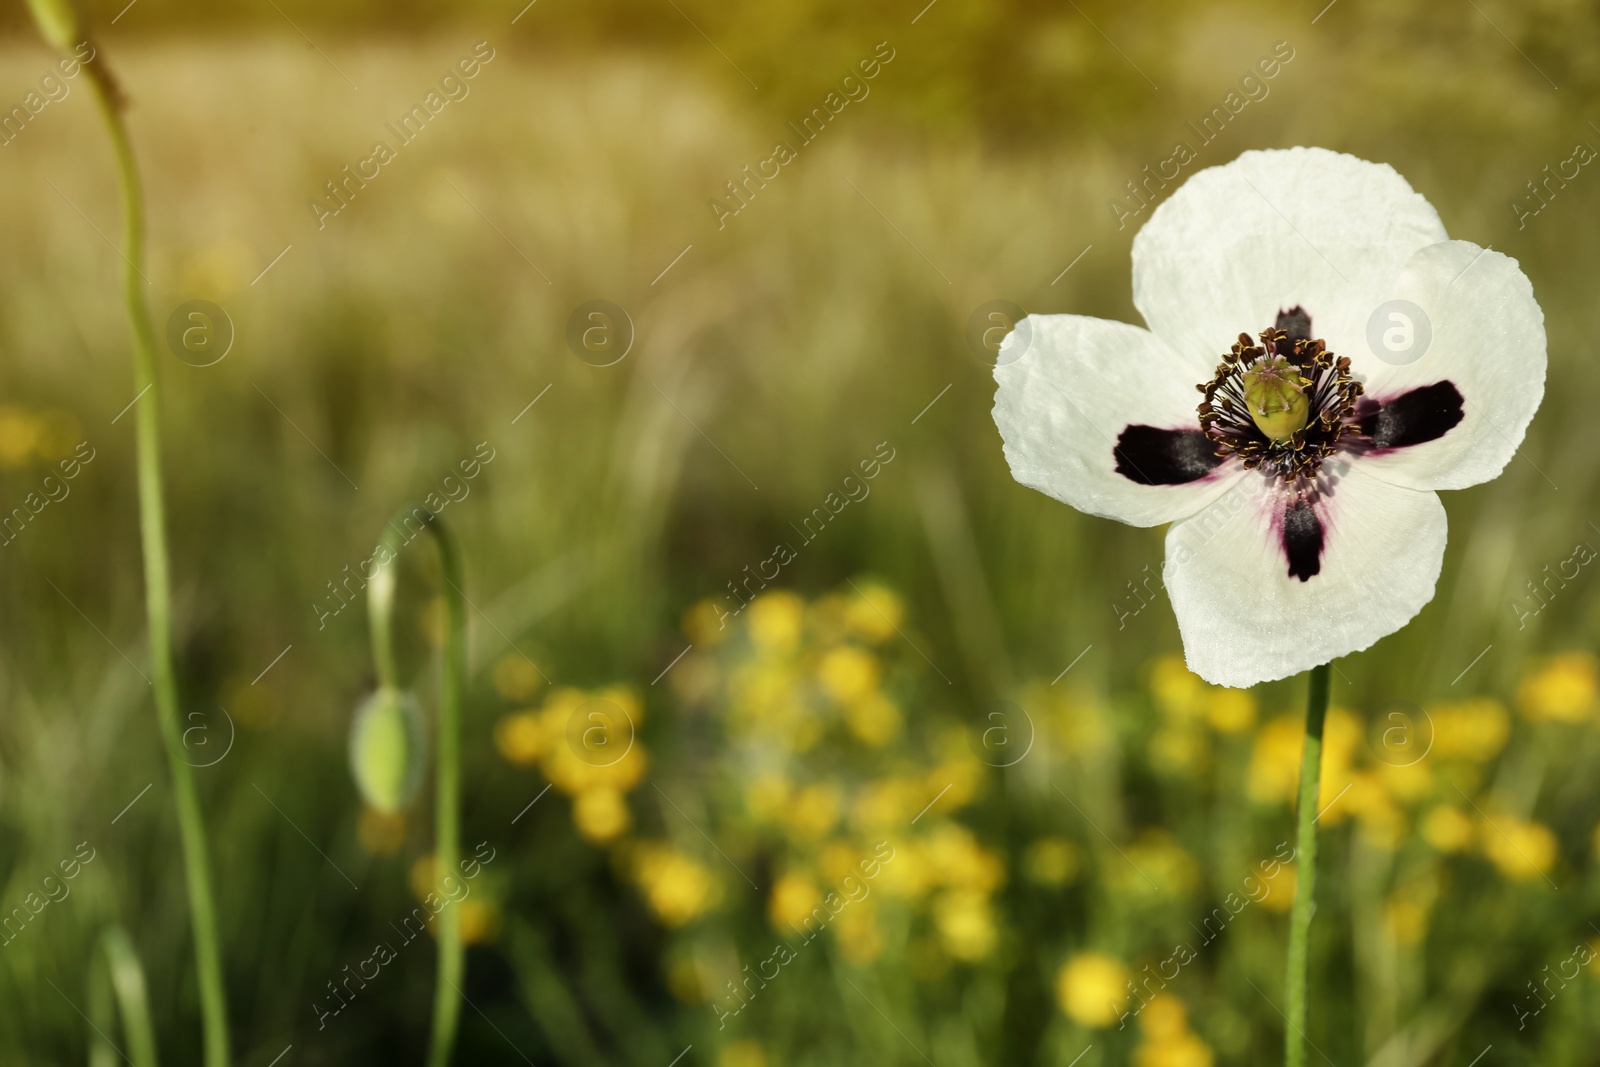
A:
{"label": "blurred grass field with yellow flowers behind the poppy", "polygon": [[[443,510],[474,605],[464,835],[496,849],[469,897],[456,1062],[666,1065],[690,1045],[683,1064],[725,1067],[1069,1064],[1086,1046],[1082,1067],[1275,1062],[1291,883],[1125,1029],[1102,1016],[1290,837],[1278,717],[1302,693],[1189,678],[1163,598],[1118,622],[1160,534],[1010,478],[963,331],[997,298],[1136,320],[1136,226],[1107,200],[1280,40],[1294,61],[1198,165],[1291,144],[1389,162],[1451,235],[1522,262],[1550,338],[1522,456],[1445,498],[1434,603],[1338,664],[1325,797],[1350,789],[1325,833],[1310,1038],[1338,1064],[1467,1064],[1486,1045],[1486,1064],[1590,1062],[1600,973],[1541,982],[1600,939],[1594,576],[1547,587],[1531,617],[1512,605],[1600,545],[1600,179],[1522,229],[1509,202],[1600,144],[1600,26],[1574,5],[1490,22],[1357,0],[1312,26],[1320,6],[1086,6],[1126,62],[1082,13],[954,0],[915,24],[694,10],[726,62],[670,10],[608,43],[621,8],[411,29],[288,6],[326,61],[270,11],[190,29],[152,3],[142,29],[141,8],[110,27],[157,323],[206,299],[237,330],[214,366],[163,354],[162,374],[190,747],[197,765],[227,752],[198,774],[238,1062],[418,1056],[424,942],[322,1029],[310,1006],[414,907],[430,848],[426,798],[398,822],[362,811],[346,734],[373,681],[365,606],[317,605],[483,442],[493,461]],[[496,56],[470,94],[318,229],[306,202],[480,40]],[[870,96],[718,229],[707,200],[880,40],[896,58]],[[16,27],[0,101],[51,62]],[[86,93],[0,163],[0,506],[94,451],[0,553],[0,905],[94,849],[0,947],[0,1061],[85,1059],[90,947],[120,920],[165,1062],[198,1062],[139,673],[133,430],[114,422],[134,400],[118,214]],[[589,299],[637,328],[614,366],[566,346]],[[894,461],[870,496],[800,545],[794,525],[882,442]],[[707,624],[782,541],[800,550],[768,595]],[[406,565],[437,581],[421,553]],[[406,614],[424,694],[435,611],[416,595]],[[629,763],[563,763],[578,694],[634,709]],[[982,744],[994,701],[1037,734],[1010,769]],[[1403,744],[1397,710],[1422,731]],[[1424,734],[1429,755],[1397,768]],[[880,841],[882,881],[718,1025],[726,982]],[[1549,1008],[1520,1017],[1536,995]]]}

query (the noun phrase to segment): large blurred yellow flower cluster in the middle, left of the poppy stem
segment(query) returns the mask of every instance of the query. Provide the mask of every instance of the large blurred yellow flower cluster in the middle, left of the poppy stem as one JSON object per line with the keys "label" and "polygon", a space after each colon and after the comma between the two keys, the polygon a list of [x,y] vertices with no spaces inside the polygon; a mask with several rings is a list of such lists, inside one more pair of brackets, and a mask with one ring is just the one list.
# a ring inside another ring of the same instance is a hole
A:
{"label": "large blurred yellow flower cluster in the middle, left of the poppy stem", "polygon": [[986,774],[966,731],[933,717],[907,723],[896,696],[904,624],[901,598],[870,579],[811,601],[763,592],[736,616],[707,601],[685,621],[696,653],[675,685],[723,728],[731,821],[774,854],[774,929],[813,929],[827,901],[848,896],[826,925],[861,965],[885,949],[882,910],[909,907],[923,917],[917,971],[936,977],[995,950],[1005,864],[950,821]]}

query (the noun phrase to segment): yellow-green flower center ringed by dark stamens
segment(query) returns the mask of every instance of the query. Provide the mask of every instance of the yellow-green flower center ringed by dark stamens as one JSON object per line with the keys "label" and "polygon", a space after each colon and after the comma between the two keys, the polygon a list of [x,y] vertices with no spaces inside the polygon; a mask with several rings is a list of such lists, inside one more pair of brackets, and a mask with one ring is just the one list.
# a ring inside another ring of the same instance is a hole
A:
{"label": "yellow-green flower center ringed by dark stamens", "polygon": [[1216,376],[1195,386],[1205,395],[1200,429],[1219,456],[1238,456],[1246,470],[1310,478],[1339,438],[1358,432],[1362,384],[1350,378],[1347,357],[1310,338],[1310,317],[1298,307],[1259,339],[1238,334]]}

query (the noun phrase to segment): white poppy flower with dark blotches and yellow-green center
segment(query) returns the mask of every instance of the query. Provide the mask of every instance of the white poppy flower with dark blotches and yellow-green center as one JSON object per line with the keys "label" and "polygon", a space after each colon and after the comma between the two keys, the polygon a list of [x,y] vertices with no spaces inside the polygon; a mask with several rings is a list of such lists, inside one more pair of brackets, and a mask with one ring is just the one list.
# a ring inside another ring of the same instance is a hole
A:
{"label": "white poppy flower with dark blotches and yellow-green center", "polygon": [[1390,166],[1246,152],[1155,210],[1133,302],[1149,330],[1029,315],[1000,347],[1016,480],[1171,523],[1163,581],[1208,681],[1285,678],[1410,622],[1445,557],[1434,490],[1504,470],[1544,395],[1517,261],[1450,240]]}

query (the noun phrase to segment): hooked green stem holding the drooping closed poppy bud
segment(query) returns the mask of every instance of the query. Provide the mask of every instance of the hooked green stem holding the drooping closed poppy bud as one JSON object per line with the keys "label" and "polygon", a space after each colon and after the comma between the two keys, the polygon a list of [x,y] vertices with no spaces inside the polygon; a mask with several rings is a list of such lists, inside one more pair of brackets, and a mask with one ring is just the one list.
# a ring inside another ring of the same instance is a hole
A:
{"label": "hooked green stem holding the drooping closed poppy bud", "polygon": [[[402,509],[384,528],[378,573],[366,584],[366,606],[373,633],[373,661],[379,685],[398,689],[394,654],[395,576],[400,549],[410,537],[400,531],[406,522],[422,525],[434,534],[438,566],[445,579],[445,648],[438,675],[438,771],[434,785],[434,856],[438,869],[454,873],[461,861],[461,694],[467,680],[467,616],[461,592],[461,553],[438,515],[426,507]],[[438,976],[434,984],[434,1037],[429,1041],[429,1067],[445,1067],[456,1043],[461,1017],[461,979],[466,971],[466,947],[461,942],[461,909],[446,907],[438,913]]]}

